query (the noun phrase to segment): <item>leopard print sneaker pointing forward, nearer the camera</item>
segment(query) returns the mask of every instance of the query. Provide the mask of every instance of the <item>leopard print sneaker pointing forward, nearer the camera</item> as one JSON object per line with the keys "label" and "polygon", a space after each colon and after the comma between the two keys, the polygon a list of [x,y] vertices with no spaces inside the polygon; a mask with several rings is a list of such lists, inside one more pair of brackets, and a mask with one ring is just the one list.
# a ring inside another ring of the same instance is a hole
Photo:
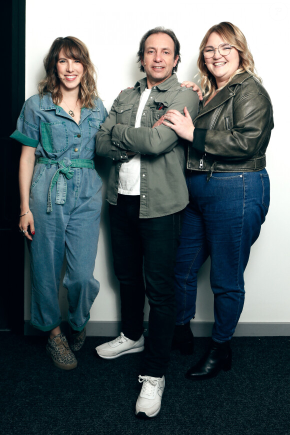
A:
{"label": "leopard print sneaker pointing forward, nearer the camera", "polygon": [[64,334],[60,333],[53,338],[48,337],[46,352],[52,358],[53,364],[63,370],[71,370],[77,366],[77,360],[68,346]]}

